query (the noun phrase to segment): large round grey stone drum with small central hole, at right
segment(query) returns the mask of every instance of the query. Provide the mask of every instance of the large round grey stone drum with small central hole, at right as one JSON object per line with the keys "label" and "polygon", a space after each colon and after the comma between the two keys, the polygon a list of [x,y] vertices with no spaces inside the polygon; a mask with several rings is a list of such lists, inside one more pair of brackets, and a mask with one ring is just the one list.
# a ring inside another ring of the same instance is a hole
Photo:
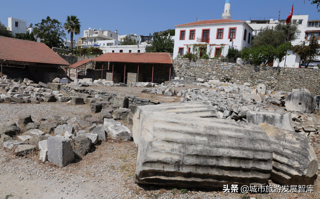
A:
{"label": "large round grey stone drum with small central hole, at right", "polygon": [[316,95],[307,91],[292,92],[285,99],[284,105],[288,111],[311,113],[317,108]]}

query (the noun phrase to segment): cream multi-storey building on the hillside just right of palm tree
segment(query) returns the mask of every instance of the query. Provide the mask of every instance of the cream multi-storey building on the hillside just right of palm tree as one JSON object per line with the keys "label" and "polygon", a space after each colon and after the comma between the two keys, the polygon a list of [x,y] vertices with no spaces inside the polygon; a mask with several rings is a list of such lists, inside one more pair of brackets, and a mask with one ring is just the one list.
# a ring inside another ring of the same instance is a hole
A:
{"label": "cream multi-storey building on the hillside just right of palm tree", "polygon": [[91,47],[98,44],[99,41],[117,40],[119,38],[118,31],[112,32],[110,30],[102,31],[96,29],[87,29],[83,32],[83,37],[78,38],[79,46]]}

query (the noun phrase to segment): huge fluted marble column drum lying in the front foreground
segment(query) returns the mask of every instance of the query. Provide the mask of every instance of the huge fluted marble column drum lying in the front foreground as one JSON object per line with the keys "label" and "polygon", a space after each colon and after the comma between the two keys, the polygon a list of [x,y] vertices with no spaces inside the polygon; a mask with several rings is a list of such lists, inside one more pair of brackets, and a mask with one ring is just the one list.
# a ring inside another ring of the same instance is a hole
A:
{"label": "huge fluted marble column drum lying in the front foreground", "polygon": [[258,125],[167,112],[144,112],[140,120],[137,183],[212,188],[268,182],[272,147]]}

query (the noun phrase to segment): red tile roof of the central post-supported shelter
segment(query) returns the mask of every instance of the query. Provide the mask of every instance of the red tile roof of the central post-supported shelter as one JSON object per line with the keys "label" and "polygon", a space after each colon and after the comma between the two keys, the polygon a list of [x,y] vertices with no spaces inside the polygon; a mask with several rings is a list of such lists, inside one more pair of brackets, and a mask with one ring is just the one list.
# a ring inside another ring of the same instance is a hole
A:
{"label": "red tile roof of the central post-supported shelter", "polygon": [[94,58],[93,61],[172,64],[169,53],[105,53]]}

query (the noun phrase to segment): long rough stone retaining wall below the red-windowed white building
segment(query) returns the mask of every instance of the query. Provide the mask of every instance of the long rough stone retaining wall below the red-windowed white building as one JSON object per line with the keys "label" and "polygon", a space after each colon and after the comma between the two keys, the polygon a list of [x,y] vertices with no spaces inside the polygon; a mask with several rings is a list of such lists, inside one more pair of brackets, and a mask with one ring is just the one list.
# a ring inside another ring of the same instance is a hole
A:
{"label": "long rough stone retaining wall below the red-windowed white building", "polygon": [[320,95],[320,70],[316,69],[253,66],[212,59],[187,58],[174,59],[173,68],[175,77],[183,77],[183,80],[179,80],[181,83],[197,82],[198,78],[204,81],[218,79],[237,84],[249,82],[253,86],[262,83],[267,89],[276,91],[306,88],[311,93]]}

